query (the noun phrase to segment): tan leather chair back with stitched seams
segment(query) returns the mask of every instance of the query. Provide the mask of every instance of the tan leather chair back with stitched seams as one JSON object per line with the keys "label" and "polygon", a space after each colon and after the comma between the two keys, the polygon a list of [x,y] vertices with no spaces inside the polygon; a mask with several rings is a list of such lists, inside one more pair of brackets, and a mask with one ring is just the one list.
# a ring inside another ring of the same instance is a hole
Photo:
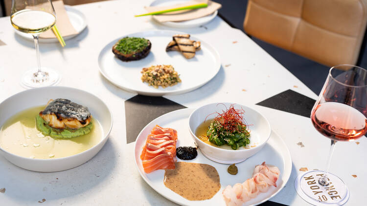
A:
{"label": "tan leather chair back with stitched seams", "polygon": [[355,64],[367,0],[249,0],[246,33],[327,66]]}

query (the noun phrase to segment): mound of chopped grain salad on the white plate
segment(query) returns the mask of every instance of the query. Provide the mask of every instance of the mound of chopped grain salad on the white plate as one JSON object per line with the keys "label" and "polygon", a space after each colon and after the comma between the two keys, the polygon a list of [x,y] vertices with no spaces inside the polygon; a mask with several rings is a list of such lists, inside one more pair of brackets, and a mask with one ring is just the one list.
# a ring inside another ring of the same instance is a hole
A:
{"label": "mound of chopped grain salad on the white plate", "polygon": [[149,86],[165,88],[181,82],[180,75],[172,65],[156,65],[141,70],[141,81],[147,82]]}

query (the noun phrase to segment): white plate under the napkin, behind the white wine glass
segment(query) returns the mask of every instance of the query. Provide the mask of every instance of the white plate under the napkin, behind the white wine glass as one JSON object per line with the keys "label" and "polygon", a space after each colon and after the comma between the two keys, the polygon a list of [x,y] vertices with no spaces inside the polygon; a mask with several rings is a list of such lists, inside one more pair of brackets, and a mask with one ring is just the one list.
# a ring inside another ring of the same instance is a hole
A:
{"label": "white plate under the napkin, behind the white wine glass", "polygon": [[[70,20],[71,25],[78,32],[75,35],[70,35],[70,36],[67,36],[67,37],[63,37],[64,40],[66,41],[66,40],[69,40],[71,38],[74,38],[74,37],[78,36],[87,27],[87,19],[86,19],[86,17],[84,16],[84,14],[82,12],[80,12],[79,10],[77,10],[77,9],[71,7],[71,6],[65,5],[65,9],[66,9],[66,13],[69,16],[69,20]],[[33,41],[33,36],[31,34],[26,34],[26,33],[20,32],[16,29],[15,29],[15,33],[17,33],[18,35],[24,37],[27,40]],[[51,38],[51,39],[40,38],[39,41],[40,42],[45,42],[45,43],[59,42],[56,37]]]}

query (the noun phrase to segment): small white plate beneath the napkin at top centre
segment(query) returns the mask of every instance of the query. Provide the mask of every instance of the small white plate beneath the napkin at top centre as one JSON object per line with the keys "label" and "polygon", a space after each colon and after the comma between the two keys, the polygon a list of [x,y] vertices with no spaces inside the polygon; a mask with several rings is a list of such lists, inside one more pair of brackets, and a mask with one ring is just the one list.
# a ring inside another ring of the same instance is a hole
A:
{"label": "small white plate beneath the napkin at top centre", "polygon": [[[169,6],[173,4],[183,3],[188,0],[155,0],[153,1],[149,6]],[[218,14],[218,10],[213,12],[210,15],[207,15],[202,18],[194,19],[194,20],[188,20],[188,21],[166,21],[166,22],[159,22],[156,20],[155,16],[152,16],[152,19],[155,21],[161,23],[162,25],[169,26],[169,27],[175,27],[175,28],[190,28],[195,26],[204,25],[207,22],[213,20]]]}

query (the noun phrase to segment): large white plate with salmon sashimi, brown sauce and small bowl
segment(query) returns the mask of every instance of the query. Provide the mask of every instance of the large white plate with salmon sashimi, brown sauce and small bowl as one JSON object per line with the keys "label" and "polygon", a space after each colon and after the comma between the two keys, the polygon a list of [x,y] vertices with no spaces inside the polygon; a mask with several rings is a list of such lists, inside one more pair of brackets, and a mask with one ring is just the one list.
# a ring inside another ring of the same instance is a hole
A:
{"label": "large white plate with salmon sashimi, brown sauce and small bowl", "polygon": [[[145,180],[148,185],[155,189],[165,198],[186,206],[225,206],[224,199],[222,197],[222,191],[227,185],[234,185],[236,183],[243,183],[248,178],[251,178],[253,169],[255,165],[259,165],[266,161],[267,164],[275,165],[280,169],[280,177],[276,182],[277,187],[271,187],[268,192],[260,193],[256,198],[250,200],[244,206],[258,205],[267,201],[268,199],[274,197],[287,183],[292,170],[292,160],[289,150],[283,140],[272,132],[267,144],[255,155],[248,158],[246,161],[236,164],[238,167],[237,175],[230,175],[227,172],[229,165],[215,163],[207,159],[198,150],[198,156],[191,161],[193,163],[208,164],[214,166],[220,176],[221,189],[217,194],[214,195],[209,200],[205,201],[189,201],[180,195],[176,194],[172,190],[168,189],[163,184],[164,170],[157,170],[152,173],[146,174],[143,170],[140,154],[142,147],[145,144],[146,137],[150,134],[151,129],[156,125],[163,127],[174,128],[178,132],[178,146],[195,146],[194,141],[191,138],[190,132],[188,130],[188,117],[194,111],[192,108],[176,110],[161,117],[153,120],[151,123],[147,124],[138,135],[137,141],[135,143],[134,158],[135,163],[138,167],[138,171],[141,177]],[[178,159],[178,161],[182,161]]]}

